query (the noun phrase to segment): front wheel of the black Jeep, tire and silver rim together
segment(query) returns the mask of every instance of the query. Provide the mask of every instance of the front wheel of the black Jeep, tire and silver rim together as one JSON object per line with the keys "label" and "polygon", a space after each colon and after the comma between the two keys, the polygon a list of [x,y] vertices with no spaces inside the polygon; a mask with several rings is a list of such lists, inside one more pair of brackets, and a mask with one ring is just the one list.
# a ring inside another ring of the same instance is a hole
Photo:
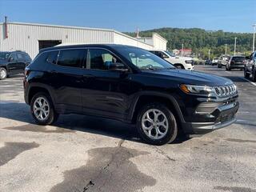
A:
{"label": "front wheel of the black Jeep, tire and silver rim together", "polygon": [[[158,114],[158,121],[155,121],[156,118],[154,118],[154,112]],[[146,114],[149,114],[150,118],[147,118]],[[147,120],[145,121],[145,119]],[[149,121],[149,119],[151,122]],[[161,122],[162,125],[159,125],[161,124]],[[146,130],[146,127],[151,128],[150,130]],[[145,142],[156,146],[161,146],[166,143],[174,142],[174,140],[178,136],[178,126],[174,114],[168,107],[158,102],[146,104],[138,112],[137,130],[138,134],[140,134],[141,138]],[[157,134],[157,130],[159,131],[158,133],[161,132],[162,135]],[[156,136],[158,138],[156,138]]]}

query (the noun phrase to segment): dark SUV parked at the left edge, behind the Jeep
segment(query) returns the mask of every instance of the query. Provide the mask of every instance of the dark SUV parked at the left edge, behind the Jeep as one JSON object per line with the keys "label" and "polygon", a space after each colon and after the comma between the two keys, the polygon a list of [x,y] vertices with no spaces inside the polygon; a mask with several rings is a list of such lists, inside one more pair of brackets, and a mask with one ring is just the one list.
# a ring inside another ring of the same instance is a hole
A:
{"label": "dark SUV parked at the left edge, behind the Jeep", "polygon": [[23,51],[0,52],[0,80],[12,74],[24,73],[26,65],[31,62],[29,54]]}

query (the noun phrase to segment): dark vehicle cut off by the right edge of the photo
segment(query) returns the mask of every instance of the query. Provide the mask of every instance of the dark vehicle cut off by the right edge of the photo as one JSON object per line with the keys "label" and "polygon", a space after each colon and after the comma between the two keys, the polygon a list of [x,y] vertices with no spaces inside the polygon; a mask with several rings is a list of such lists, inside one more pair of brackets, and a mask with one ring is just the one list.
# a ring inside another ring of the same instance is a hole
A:
{"label": "dark vehicle cut off by the right edge of the photo", "polygon": [[252,75],[253,82],[256,82],[256,51],[250,54],[249,57],[246,57],[246,65],[244,69],[245,78],[250,78],[250,74]]}

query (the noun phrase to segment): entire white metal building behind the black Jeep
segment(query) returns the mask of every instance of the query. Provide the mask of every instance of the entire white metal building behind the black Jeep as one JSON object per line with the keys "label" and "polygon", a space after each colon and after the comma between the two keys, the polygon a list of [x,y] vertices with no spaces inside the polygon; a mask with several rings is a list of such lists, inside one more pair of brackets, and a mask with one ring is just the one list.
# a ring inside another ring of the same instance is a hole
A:
{"label": "entire white metal building behind the black Jeep", "polygon": [[166,39],[159,34],[152,38],[132,38],[116,30],[53,26],[21,22],[0,23],[0,51],[24,50],[34,58],[38,50],[58,44],[114,43],[138,46],[146,50],[166,50]]}

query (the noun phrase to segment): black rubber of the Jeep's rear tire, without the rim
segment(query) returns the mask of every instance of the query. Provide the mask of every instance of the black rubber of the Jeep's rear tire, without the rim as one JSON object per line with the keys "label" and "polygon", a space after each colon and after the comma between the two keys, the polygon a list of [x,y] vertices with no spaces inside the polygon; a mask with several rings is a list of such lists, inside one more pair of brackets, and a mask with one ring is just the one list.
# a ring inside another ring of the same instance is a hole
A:
{"label": "black rubber of the Jeep's rear tire, without the rim", "polygon": [[[50,106],[50,112],[49,112],[48,118],[46,118],[46,120],[44,120],[44,121],[38,120],[38,118],[36,118],[36,116],[34,115],[34,110],[33,110],[34,102],[38,97],[45,98],[46,101],[49,103],[49,106]],[[53,106],[53,103],[51,102],[50,96],[46,93],[43,93],[43,92],[40,92],[38,94],[34,94],[34,97],[32,98],[32,100],[30,102],[30,111],[31,111],[31,114],[32,114],[34,120],[39,125],[43,125],[43,126],[50,125],[58,118],[58,114],[56,114],[55,111],[54,111],[54,106]]]}

